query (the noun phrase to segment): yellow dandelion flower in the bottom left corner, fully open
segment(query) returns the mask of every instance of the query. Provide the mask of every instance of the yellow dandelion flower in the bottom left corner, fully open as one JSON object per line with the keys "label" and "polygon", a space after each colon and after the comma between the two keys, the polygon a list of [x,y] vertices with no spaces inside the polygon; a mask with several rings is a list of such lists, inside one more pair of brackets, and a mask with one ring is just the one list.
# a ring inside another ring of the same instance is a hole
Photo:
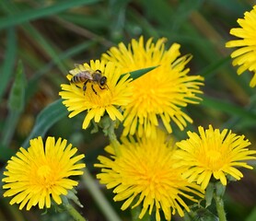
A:
{"label": "yellow dandelion flower in the bottom left corner, fully open", "polygon": [[85,156],[74,157],[77,149],[66,144],[61,138],[55,142],[54,137],[48,137],[43,145],[40,136],[30,140],[28,150],[19,148],[16,156],[8,160],[4,172],[3,188],[8,189],[4,196],[13,196],[10,204],[20,204],[19,209],[27,204],[29,210],[36,204],[40,209],[50,208],[51,197],[56,204],[62,203],[61,195],[78,183],[68,177],[83,174],[80,169],[86,167],[83,163],[76,164]]}

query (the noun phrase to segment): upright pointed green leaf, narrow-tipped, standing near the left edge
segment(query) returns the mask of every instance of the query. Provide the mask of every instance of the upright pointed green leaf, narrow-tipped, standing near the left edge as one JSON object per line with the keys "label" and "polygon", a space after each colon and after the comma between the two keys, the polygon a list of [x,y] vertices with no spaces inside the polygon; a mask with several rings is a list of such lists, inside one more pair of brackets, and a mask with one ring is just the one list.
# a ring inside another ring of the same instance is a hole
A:
{"label": "upright pointed green leaf, narrow-tipped, standing near the left edge", "polygon": [[25,102],[25,87],[26,80],[23,72],[23,64],[19,61],[17,64],[15,82],[11,88],[10,96],[8,99],[8,109],[10,111],[23,111]]}

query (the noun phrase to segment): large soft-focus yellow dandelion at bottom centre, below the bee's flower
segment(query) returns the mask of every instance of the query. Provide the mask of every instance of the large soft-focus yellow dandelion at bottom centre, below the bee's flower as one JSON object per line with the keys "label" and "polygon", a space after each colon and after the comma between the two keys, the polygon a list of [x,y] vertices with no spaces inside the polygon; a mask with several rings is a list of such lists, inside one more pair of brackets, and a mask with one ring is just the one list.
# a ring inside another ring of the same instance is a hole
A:
{"label": "large soft-focus yellow dandelion at bottom centre, below the bee's flower", "polygon": [[112,145],[105,149],[111,157],[98,157],[100,163],[95,167],[101,168],[101,173],[97,178],[108,189],[114,188],[114,201],[125,201],[122,210],[136,201],[132,208],[139,204],[143,207],[139,218],[155,210],[159,221],[162,210],[170,220],[176,211],[183,216],[182,208],[190,211],[184,198],[196,202],[192,195],[203,197],[199,186],[181,178],[184,170],[175,167],[173,142],[167,142],[162,131],[157,130],[157,138],[144,136],[137,141],[122,137],[119,155],[115,155]]}

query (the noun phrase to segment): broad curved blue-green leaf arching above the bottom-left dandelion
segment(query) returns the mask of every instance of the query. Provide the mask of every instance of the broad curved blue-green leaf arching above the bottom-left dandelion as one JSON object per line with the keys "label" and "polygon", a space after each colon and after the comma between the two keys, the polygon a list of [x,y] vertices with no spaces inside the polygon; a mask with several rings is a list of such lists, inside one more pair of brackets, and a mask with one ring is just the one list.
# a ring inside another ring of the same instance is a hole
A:
{"label": "broad curved blue-green leaf arching above the bottom-left dandelion", "polygon": [[29,137],[23,143],[23,147],[26,148],[29,146],[29,140],[38,136],[44,136],[46,132],[52,127],[55,122],[59,122],[65,116],[67,116],[68,111],[63,105],[63,100],[58,99],[52,104],[44,108],[36,118],[35,126],[33,127],[32,132],[29,134]]}

